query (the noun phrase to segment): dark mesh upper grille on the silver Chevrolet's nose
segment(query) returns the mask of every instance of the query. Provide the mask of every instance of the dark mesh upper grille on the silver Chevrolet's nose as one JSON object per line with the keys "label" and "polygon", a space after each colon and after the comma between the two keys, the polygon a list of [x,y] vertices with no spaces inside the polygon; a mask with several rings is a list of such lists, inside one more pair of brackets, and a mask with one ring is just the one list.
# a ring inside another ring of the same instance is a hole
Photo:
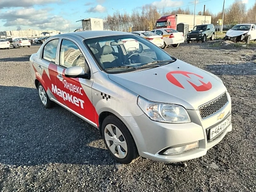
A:
{"label": "dark mesh upper grille on the silver Chevrolet's nose", "polygon": [[214,100],[199,106],[199,113],[202,119],[206,119],[210,115],[216,113],[218,110],[223,108],[228,103],[228,96],[226,92]]}

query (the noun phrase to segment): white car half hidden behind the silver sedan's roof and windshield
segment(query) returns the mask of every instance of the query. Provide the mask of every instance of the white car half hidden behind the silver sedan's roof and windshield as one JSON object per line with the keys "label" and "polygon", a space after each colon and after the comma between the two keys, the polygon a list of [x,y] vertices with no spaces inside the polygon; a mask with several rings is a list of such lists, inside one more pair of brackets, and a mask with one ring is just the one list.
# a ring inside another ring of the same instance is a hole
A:
{"label": "white car half hidden behind the silver sedan's roof and windshield", "polygon": [[158,47],[164,46],[164,40],[162,39],[162,36],[154,34],[151,31],[132,31],[132,33],[137,34],[138,36],[141,36],[150,42],[153,42],[153,44]]}

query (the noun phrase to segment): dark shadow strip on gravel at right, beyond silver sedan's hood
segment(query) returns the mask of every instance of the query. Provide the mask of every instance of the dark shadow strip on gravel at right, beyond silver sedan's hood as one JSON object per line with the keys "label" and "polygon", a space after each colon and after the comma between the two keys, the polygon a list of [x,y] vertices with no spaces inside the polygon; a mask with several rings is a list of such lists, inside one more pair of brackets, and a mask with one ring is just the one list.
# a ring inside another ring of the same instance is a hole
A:
{"label": "dark shadow strip on gravel at right, beyond silver sedan's hood", "polygon": [[207,65],[205,70],[217,75],[256,75],[256,63]]}

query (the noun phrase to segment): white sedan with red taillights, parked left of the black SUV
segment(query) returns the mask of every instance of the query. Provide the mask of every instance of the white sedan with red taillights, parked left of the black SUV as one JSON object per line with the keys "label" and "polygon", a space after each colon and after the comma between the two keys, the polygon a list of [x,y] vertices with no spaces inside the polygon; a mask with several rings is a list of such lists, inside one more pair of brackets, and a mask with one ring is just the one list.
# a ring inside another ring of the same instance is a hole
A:
{"label": "white sedan with red taillights, parked left of the black SUV", "polygon": [[153,30],[151,32],[161,35],[163,37],[164,46],[162,47],[162,49],[170,45],[176,48],[180,43],[184,42],[184,34],[171,28],[161,28]]}

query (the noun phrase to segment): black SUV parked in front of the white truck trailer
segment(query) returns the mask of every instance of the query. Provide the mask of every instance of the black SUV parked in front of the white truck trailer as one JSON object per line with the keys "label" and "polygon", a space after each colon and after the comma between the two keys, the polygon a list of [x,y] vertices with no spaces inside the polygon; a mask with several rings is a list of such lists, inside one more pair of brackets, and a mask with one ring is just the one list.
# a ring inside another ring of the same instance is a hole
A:
{"label": "black SUV parked in front of the white truck trailer", "polygon": [[196,25],[193,30],[186,35],[186,42],[190,41],[202,41],[206,42],[206,39],[214,40],[215,28],[213,24],[208,25]]}

